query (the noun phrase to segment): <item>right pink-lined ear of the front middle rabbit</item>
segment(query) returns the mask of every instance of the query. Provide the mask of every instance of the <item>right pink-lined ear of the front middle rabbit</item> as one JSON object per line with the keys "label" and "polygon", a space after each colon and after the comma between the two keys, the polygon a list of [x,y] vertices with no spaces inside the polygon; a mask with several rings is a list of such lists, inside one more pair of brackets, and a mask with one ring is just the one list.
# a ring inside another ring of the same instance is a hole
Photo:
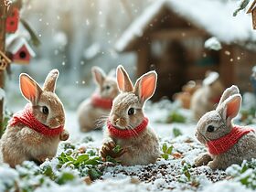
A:
{"label": "right pink-lined ear of the front middle rabbit", "polygon": [[156,89],[157,73],[150,71],[145,73],[135,83],[134,93],[139,96],[142,102],[150,99]]}

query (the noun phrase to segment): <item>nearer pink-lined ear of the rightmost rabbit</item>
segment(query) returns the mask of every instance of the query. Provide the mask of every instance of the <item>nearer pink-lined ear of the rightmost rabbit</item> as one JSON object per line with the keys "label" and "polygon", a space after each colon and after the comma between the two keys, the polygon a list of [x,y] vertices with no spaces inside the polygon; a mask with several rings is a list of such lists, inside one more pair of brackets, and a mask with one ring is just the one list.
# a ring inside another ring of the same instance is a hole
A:
{"label": "nearer pink-lined ear of the rightmost rabbit", "polygon": [[230,96],[221,106],[217,108],[217,111],[222,115],[224,120],[231,121],[240,112],[241,96],[235,94]]}

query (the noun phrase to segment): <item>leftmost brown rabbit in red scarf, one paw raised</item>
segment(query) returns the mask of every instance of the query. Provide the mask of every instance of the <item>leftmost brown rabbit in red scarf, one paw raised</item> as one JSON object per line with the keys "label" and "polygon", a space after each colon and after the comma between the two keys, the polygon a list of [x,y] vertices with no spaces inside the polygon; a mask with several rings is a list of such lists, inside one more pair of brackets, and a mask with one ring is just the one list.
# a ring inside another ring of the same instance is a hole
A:
{"label": "leftmost brown rabbit in red scarf, one paw raised", "polygon": [[3,160],[11,167],[27,160],[41,164],[56,155],[59,141],[68,140],[64,107],[55,94],[58,77],[59,70],[52,69],[41,89],[29,75],[20,74],[20,91],[29,103],[14,114],[1,139]]}

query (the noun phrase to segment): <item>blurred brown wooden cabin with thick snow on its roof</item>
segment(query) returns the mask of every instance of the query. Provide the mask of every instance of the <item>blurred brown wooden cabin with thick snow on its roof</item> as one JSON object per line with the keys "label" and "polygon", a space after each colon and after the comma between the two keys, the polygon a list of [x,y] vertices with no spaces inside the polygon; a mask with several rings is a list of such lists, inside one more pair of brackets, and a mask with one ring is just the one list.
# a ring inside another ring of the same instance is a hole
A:
{"label": "blurred brown wooden cabin with thick snow on its roof", "polygon": [[[155,69],[155,99],[181,91],[188,80],[202,80],[218,71],[225,84],[251,90],[251,68],[256,64],[256,34],[248,15],[232,16],[236,5],[212,0],[159,0],[134,19],[115,44],[120,53],[137,56],[137,75]],[[205,48],[217,37],[220,50]]]}

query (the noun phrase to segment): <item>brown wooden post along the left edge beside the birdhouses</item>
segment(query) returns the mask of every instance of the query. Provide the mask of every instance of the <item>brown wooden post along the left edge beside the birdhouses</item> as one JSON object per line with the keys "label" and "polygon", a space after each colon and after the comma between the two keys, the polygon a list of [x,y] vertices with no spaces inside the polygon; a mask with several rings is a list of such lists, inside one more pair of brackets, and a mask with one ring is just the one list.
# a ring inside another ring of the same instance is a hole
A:
{"label": "brown wooden post along the left edge beside the birdhouses", "polygon": [[[5,53],[5,23],[7,16],[7,1],[0,0],[0,50]],[[5,88],[5,70],[0,69],[0,88]],[[3,131],[4,98],[0,100],[0,133]],[[0,135],[1,136],[1,135]]]}

